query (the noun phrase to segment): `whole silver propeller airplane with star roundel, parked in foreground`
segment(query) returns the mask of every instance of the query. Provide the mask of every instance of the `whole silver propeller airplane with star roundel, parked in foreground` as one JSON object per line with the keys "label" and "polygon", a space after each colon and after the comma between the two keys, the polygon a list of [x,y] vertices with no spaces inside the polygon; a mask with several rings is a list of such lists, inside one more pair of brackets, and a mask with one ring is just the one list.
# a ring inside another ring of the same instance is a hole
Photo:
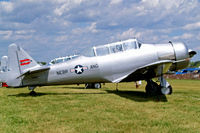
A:
{"label": "whole silver propeller airplane with star roundel, parked in foreground", "polygon": [[[184,43],[144,44],[136,39],[95,46],[89,53],[42,66],[11,44],[0,79],[8,87],[28,87],[32,92],[37,86],[87,84],[101,88],[101,83],[146,80],[148,95],[166,95],[172,93],[172,87],[163,75],[187,67],[196,54]],[[152,80],[155,77],[159,84]]]}

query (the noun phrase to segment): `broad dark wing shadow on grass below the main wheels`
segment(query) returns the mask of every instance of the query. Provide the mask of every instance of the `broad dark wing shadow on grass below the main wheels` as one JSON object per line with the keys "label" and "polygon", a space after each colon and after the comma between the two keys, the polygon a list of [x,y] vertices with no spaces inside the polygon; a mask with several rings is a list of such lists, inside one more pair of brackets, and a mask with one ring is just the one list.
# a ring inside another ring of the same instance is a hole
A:
{"label": "broad dark wing shadow on grass below the main wheels", "polygon": [[121,91],[121,90],[106,90],[108,93],[116,94],[120,97],[130,99],[136,102],[147,102],[147,101],[155,101],[155,102],[167,102],[167,97],[165,95],[152,96],[148,97],[145,92],[141,91]]}

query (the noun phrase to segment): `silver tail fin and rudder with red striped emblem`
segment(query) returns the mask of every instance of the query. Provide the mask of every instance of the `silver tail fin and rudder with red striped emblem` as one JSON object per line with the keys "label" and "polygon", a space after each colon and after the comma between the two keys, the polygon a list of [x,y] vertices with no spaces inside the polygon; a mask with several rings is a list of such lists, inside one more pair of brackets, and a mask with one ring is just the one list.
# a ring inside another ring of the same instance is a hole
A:
{"label": "silver tail fin and rudder with red striped emblem", "polygon": [[40,65],[28,55],[22,48],[16,44],[8,47],[8,72],[6,74],[6,83],[8,86],[23,86],[23,77],[19,77],[30,68],[39,67]]}

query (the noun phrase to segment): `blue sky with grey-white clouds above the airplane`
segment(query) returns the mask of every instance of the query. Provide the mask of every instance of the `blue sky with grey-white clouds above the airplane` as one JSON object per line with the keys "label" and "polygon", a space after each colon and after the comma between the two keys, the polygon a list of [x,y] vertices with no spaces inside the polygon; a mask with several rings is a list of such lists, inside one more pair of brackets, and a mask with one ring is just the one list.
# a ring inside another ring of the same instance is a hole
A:
{"label": "blue sky with grey-white clouds above the airplane", "polygon": [[16,43],[36,61],[137,38],[184,42],[200,60],[200,0],[0,0],[0,57]]}

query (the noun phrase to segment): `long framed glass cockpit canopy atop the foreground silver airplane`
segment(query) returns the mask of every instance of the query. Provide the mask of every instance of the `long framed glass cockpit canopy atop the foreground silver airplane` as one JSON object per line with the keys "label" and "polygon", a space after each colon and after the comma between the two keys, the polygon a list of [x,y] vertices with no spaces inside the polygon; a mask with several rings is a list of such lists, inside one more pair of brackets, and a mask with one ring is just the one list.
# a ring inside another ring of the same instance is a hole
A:
{"label": "long framed glass cockpit canopy atop the foreground silver airplane", "polygon": [[141,43],[136,39],[129,39],[116,43],[110,43],[102,46],[93,47],[94,56],[104,56],[112,53],[123,52],[131,49],[140,48]]}

